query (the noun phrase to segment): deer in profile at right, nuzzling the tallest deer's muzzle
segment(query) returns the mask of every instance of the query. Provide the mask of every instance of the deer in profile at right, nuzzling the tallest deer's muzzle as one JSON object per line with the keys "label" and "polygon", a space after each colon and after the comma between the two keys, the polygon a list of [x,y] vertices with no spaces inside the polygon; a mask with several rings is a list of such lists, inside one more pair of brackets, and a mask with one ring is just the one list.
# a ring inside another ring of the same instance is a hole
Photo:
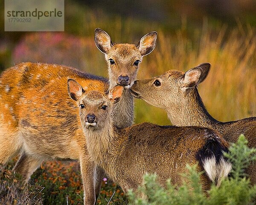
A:
{"label": "deer in profile at right, nuzzling the tallest deer's muzzle", "polygon": [[[132,86],[134,97],[163,108],[172,125],[202,126],[218,131],[225,140],[235,143],[244,134],[249,147],[256,147],[256,117],[232,122],[219,122],[207,111],[198,93],[197,85],[204,81],[210,68],[202,63],[185,73],[169,70],[146,80],[137,80]],[[255,165],[246,171],[252,183],[256,183]]]}

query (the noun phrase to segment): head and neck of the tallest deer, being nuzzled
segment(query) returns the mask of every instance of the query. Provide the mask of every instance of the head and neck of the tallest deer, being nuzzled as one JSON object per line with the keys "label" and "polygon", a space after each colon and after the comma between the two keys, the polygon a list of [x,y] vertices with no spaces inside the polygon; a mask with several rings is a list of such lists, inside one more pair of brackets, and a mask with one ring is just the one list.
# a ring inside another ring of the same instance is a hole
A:
{"label": "head and neck of the tallest deer, being nuzzled", "polygon": [[[137,77],[139,65],[134,65],[136,60],[142,61],[144,55],[151,53],[154,50],[157,42],[157,32],[153,31],[143,36],[137,46],[135,44],[119,43],[114,44],[110,36],[103,30],[95,29],[95,43],[102,53],[105,54],[105,59],[108,64],[108,75],[110,81],[110,88],[118,85],[119,76],[128,76],[130,78],[129,85],[125,86],[130,88]],[[114,60],[114,64],[110,63],[110,59]],[[125,125],[132,125],[134,120],[134,101],[130,94],[130,89],[126,89],[123,93],[120,103],[114,105],[113,119],[119,128],[125,128]],[[124,118],[117,118],[122,115]],[[127,127],[127,126],[126,126]]]}

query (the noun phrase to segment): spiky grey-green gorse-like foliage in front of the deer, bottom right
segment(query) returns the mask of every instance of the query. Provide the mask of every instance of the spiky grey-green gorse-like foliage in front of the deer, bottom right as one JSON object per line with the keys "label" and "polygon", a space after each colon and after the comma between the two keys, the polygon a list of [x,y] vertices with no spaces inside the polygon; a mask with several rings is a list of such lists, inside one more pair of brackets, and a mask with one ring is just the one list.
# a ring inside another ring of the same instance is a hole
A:
{"label": "spiky grey-green gorse-like foliage in front of the deer, bottom right", "polygon": [[196,171],[196,165],[187,166],[190,183],[183,183],[176,187],[167,181],[167,189],[157,184],[157,175],[146,174],[144,184],[138,189],[138,193],[129,191],[128,196],[131,205],[250,205],[255,204],[256,185],[250,185],[250,179],[246,179],[244,169],[250,162],[256,159],[256,149],[247,147],[244,135],[239,137],[236,144],[232,144],[229,153],[225,156],[233,164],[231,175],[224,179],[220,187],[212,184],[208,196],[202,191],[199,183],[200,175]]}

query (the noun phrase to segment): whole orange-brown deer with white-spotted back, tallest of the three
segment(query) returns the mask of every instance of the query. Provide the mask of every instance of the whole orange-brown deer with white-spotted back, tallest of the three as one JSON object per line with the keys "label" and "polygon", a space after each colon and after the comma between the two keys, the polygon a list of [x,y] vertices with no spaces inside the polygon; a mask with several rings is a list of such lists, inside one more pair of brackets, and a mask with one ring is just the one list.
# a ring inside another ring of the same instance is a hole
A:
{"label": "whole orange-brown deer with white-spotted back, tallest of the three", "polygon": [[[156,33],[145,35],[138,46],[112,45],[108,34],[99,28],[95,39],[96,45],[102,45],[101,50],[105,49],[120,66],[109,65],[109,82],[74,68],[45,63],[19,63],[0,76],[0,163],[20,154],[14,170],[27,182],[42,161],[78,159],[84,204],[88,205],[94,204],[99,195],[102,171],[94,166],[87,153],[84,134],[78,123],[79,109],[67,93],[67,79],[72,77],[86,89],[106,92],[109,84],[127,86],[121,80],[118,82],[125,74],[130,77],[131,85],[138,69],[137,60],[141,61],[143,55],[154,49]],[[117,127],[128,127],[133,121],[133,101],[127,94],[121,103],[121,107],[116,106],[113,110],[113,120]]]}

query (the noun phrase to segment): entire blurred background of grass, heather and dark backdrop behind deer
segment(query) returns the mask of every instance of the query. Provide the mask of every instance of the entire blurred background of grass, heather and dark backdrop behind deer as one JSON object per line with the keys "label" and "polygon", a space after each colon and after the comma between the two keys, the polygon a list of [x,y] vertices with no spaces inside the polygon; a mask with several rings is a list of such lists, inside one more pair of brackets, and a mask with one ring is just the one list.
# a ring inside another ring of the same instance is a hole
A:
{"label": "entire blurred background of grass, heather and dark backdrop behind deer", "polygon": [[[0,70],[21,61],[57,63],[107,77],[94,29],[115,43],[137,43],[157,31],[155,50],[138,78],[212,64],[201,97],[221,121],[256,115],[255,0],[65,0],[65,32],[4,32],[0,2]],[[164,111],[136,100],[136,122],[170,124]]]}

